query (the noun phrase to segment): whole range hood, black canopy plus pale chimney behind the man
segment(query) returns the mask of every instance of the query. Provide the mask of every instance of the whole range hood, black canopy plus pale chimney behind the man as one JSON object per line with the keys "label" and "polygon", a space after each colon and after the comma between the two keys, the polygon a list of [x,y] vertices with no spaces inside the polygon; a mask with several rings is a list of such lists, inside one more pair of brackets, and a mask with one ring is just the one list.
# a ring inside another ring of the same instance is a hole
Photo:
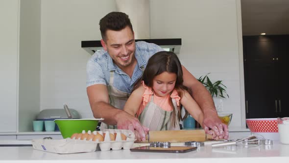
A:
{"label": "whole range hood, black canopy plus pale chimney behind the man", "polygon": [[[117,11],[126,13],[134,29],[134,36],[137,41],[154,43],[162,47],[165,51],[171,51],[175,54],[180,53],[182,39],[150,39],[150,21],[149,21],[149,0],[115,0]],[[166,36],[164,36],[166,37]],[[81,41],[81,47],[88,53],[94,54],[101,50],[100,41]]]}

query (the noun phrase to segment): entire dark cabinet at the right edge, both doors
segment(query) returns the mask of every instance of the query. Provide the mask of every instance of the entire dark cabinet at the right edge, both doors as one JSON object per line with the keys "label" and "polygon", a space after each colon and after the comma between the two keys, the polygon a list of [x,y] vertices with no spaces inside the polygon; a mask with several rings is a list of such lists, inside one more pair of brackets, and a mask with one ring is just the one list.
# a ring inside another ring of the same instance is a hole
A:
{"label": "entire dark cabinet at the right edge, both doors", "polygon": [[243,36],[246,118],[289,116],[289,35]]}

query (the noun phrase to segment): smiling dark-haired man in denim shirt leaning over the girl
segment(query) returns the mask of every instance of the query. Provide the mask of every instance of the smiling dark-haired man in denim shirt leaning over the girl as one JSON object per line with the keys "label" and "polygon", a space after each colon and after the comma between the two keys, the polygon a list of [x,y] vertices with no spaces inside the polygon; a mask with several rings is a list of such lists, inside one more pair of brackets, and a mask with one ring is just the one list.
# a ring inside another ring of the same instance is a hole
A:
{"label": "smiling dark-haired man in denim shirt leaning over the girl", "polygon": [[[104,118],[101,128],[117,125],[118,129],[135,130],[144,141],[148,129],[122,109],[149,57],[164,50],[155,44],[135,42],[125,13],[111,12],[99,21],[99,26],[104,50],[96,52],[87,62],[87,94],[94,117]],[[182,68],[184,85],[192,89],[193,98],[204,112],[206,133],[227,139],[228,126],[218,118],[210,93],[184,66]]]}

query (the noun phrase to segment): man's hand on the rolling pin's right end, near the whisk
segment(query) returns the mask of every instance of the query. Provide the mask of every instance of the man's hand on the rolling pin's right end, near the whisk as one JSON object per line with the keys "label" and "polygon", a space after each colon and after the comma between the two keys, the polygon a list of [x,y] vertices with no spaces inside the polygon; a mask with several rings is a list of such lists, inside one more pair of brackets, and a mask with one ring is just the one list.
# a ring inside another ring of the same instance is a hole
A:
{"label": "man's hand on the rolling pin's right end, near the whisk", "polygon": [[[216,110],[207,109],[204,112],[203,127],[207,134],[213,135],[214,139],[228,139],[228,126],[221,122]],[[215,133],[213,134],[210,129]]]}

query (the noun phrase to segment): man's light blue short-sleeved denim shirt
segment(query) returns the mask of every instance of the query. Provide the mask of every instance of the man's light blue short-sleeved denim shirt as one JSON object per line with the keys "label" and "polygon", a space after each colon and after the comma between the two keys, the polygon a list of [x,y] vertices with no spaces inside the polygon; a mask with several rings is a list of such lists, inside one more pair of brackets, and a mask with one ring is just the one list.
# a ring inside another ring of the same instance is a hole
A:
{"label": "man's light blue short-sleeved denim shirt", "polygon": [[114,71],[113,87],[120,91],[131,93],[135,82],[142,76],[142,67],[146,67],[148,59],[155,53],[164,51],[161,47],[153,43],[144,41],[136,42],[135,57],[138,64],[134,68],[130,78],[116,64],[107,51],[97,51],[91,56],[86,66],[86,86],[94,84],[109,85],[110,71]]}

